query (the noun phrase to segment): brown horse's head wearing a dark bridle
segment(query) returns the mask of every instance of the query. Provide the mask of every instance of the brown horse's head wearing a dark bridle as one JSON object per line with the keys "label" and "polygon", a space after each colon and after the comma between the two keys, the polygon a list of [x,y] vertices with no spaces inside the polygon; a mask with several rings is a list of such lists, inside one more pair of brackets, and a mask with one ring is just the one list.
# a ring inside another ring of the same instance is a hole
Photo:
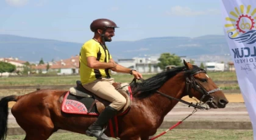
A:
{"label": "brown horse's head wearing a dark bridle", "polygon": [[210,108],[225,108],[229,101],[221,89],[208,77],[204,69],[191,65],[185,60],[183,63],[186,67],[186,94],[207,103]]}

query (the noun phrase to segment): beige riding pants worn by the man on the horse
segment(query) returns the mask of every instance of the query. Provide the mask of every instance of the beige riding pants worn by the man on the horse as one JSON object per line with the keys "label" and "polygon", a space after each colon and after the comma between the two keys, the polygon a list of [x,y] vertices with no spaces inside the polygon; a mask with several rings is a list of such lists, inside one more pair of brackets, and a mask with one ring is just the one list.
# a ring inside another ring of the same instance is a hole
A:
{"label": "beige riding pants worn by the man on the horse", "polygon": [[83,86],[96,96],[111,102],[110,107],[119,111],[126,105],[126,98],[115,89],[113,82],[114,79],[98,79]]}

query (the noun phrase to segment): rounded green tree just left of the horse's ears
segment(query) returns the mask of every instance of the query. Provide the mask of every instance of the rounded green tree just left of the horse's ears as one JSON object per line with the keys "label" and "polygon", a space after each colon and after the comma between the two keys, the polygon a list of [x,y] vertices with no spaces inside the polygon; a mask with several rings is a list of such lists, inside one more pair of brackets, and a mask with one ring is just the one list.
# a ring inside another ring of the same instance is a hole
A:
{"label": "rounded green tree just left of the horse's ears", "polygon": [[182,60],[180,60],[180,57],[177,56],[176,54],[163,53],[161,54],[160,58],[158,58],[158,61],[160,61],[160,63],[158,63],[157,65],[161,69],[165,69],[165,67],[168,65],[175,65],[175,66],[182,65]]}

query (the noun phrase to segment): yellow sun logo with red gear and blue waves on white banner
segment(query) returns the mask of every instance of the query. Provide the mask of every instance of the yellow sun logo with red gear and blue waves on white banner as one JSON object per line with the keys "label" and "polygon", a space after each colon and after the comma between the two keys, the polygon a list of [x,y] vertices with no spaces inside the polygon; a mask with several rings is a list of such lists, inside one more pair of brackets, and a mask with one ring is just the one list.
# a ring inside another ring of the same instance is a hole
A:
{"label": "yellow sun logo with red gear and blue waves on white banner", "polygon": [[[240,9],[235,7],[235,12],[230,12],[230,17],[226,18],[227,33],[230,39],[239,43],[252,44],[256,42],[256,9],[251,10],[251,5]],[[231,36],[231,37],[230,37]]]}

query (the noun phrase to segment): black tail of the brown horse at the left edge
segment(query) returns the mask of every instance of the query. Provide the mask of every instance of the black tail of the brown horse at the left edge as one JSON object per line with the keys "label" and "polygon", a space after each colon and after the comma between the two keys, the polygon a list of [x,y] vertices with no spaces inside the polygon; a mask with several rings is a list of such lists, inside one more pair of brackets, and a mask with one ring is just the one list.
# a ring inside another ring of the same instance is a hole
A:
{"label": "black tail of the brown horse at the left edge", "polygon": [[0,140],[7,136],[8,102],[17,101],[18,96],[7,96],[0,100]]}

